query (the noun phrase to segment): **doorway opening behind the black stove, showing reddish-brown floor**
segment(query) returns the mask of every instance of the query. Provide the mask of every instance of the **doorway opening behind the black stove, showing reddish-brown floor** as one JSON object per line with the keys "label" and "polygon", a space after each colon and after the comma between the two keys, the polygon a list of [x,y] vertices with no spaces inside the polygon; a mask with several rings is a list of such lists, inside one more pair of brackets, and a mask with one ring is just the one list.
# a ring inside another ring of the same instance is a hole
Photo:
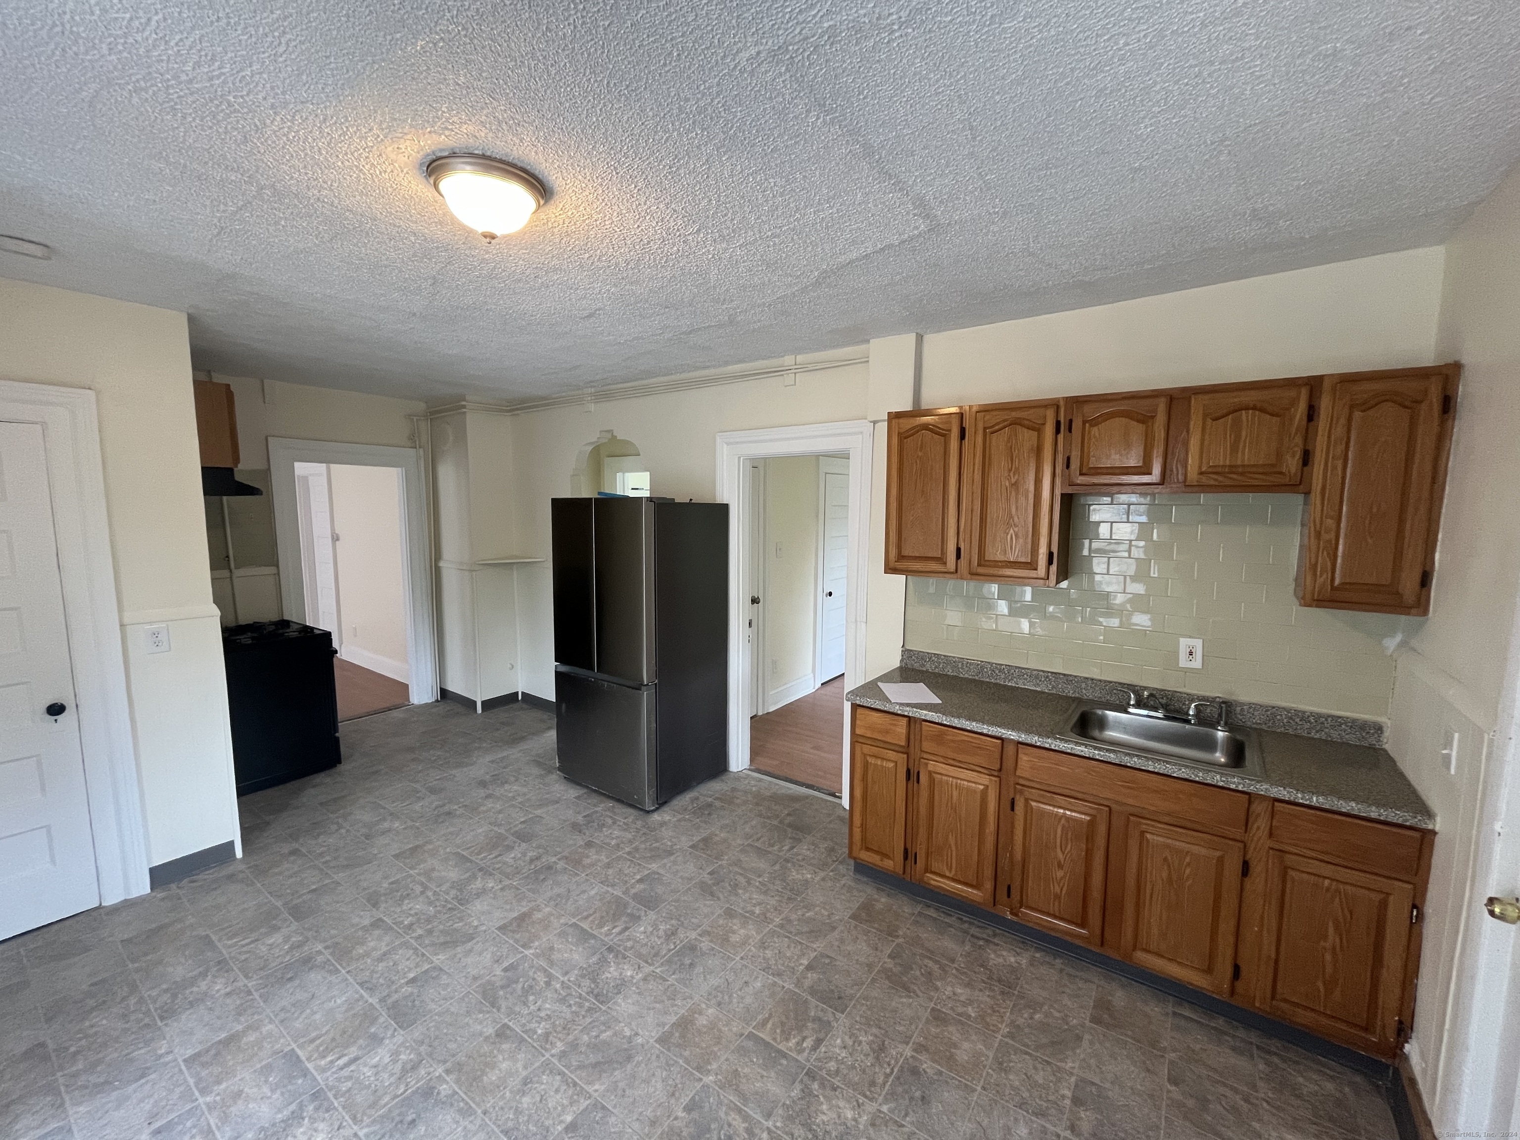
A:
{"label": "doorway opening behind the black stove, showing reddish-brown floor", "polygon": [[410,704],[401,473],[295,464],[306,623],[333,635],[337,719]]}

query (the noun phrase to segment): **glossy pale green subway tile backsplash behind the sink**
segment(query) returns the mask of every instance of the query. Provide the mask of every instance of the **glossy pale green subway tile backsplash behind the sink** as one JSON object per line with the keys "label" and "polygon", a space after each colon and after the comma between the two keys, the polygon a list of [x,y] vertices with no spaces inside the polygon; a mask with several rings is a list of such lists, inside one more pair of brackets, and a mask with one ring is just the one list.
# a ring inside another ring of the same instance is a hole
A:
{"label": "glossy pale green subway tile backsplash behind the sink", "polygon": [[[1078,496],[1056,588],[912,578],[904,643],[979,661],[1388,717],[1392,649],[1424,619],[1294,596],[1303,496]],[[1176,640],[1204,638],[1180,669]]]}

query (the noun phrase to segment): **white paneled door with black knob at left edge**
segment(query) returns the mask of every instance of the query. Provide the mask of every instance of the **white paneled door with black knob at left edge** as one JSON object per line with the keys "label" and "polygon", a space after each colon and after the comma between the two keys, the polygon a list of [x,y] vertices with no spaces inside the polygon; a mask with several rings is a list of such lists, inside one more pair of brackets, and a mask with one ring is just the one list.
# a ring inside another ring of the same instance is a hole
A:
{"label": "white paneled door with black knob at left edge", "polygon": [[44,448],[0,421],[0,938],[100,903]]}

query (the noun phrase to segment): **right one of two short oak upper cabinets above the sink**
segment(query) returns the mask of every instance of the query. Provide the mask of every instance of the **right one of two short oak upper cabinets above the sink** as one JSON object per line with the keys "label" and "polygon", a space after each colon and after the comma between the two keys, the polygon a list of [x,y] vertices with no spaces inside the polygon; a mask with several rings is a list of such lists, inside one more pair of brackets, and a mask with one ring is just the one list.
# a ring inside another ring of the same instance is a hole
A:
{"label": "right one of two short oak upper cabinets above the sink", "polygon": [[1301,380],[1189,395],[1187,486],[1298,489],[1310,391]]}

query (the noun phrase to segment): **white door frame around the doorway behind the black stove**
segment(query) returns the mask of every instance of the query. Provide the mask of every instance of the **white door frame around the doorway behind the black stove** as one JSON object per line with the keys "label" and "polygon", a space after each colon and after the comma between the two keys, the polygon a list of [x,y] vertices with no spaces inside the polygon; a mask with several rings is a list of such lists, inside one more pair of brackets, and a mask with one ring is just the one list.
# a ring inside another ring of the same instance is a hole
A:
{"label": "white door frame around the doorway behind the black stove", "polygon": [[433,575],[427,535],[427,480],[423,453],[415,447],[333,444],[319,439],[269,439],[269,485],[275,508],[275,546],[280,555],[280,593],[286,614],[306,614],[301,573],[301,521],[296,506],[295,465],[339,464],[395,467],[401,471],[401,588],[407,597],[406,657],[412,704],[438,699],[438,635],[433,626]]}

